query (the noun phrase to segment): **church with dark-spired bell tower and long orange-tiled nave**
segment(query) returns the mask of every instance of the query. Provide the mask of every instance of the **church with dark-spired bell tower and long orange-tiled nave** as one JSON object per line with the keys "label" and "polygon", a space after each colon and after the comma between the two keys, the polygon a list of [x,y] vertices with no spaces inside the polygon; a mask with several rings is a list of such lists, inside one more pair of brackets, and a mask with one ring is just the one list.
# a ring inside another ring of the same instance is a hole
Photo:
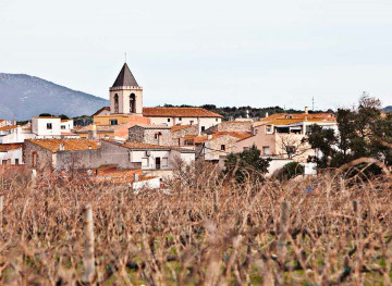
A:
{"label": "church with dark-spired bell tower and long orange-tiled nave", "polygon": [[127,124],[198,125],[199,133],[222,121],[222,116],[203,108],[144,108],[143,87],[124,63],[114,84],[109,88],[110,107],[94,114],[97,126]]}

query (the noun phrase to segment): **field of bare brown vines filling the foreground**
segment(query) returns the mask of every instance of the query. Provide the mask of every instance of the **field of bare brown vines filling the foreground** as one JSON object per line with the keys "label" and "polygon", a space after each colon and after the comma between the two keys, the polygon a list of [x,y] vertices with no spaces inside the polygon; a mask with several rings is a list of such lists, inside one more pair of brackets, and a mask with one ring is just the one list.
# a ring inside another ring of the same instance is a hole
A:
{"label": "field of bare brown vines filling the foreground", "polygon": [[0,284],[391,284],[390,177],[238,186],[204,170],[172,195],[3,175]]}

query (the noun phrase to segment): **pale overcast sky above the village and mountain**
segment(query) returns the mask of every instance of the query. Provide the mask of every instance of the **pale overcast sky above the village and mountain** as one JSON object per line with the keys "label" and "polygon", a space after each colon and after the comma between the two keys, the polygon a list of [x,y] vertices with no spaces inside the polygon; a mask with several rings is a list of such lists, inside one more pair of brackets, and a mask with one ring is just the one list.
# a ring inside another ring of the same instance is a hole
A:
{"label": "pale overcast sky above the village and mountain", "polygon": [[0,72],[144,104],[392,104],[391,0],[0,0]]}

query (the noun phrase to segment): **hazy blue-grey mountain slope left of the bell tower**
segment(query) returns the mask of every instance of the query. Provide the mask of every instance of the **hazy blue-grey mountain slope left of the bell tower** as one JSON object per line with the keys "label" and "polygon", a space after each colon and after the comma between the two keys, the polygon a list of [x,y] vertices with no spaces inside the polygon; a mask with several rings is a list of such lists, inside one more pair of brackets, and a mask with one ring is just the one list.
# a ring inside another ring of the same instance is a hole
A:
{"label": "hazy blue-grey mountain slope left of the bell tower", "polygon": [[90,115],[108,102],[39,77],[0,73],[0,119],[29,120],[40,113]]}

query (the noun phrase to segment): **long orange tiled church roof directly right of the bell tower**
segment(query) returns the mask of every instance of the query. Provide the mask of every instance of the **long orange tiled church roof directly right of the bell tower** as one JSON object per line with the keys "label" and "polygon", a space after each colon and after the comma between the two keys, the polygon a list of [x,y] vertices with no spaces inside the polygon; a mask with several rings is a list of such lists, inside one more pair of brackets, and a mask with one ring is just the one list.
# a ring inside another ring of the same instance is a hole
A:
{"label": "long orange tiled church roof directly right of the bell tower", "polygon": [[222,117],[203,108],[143,108],[144,116],[152,117]]}

